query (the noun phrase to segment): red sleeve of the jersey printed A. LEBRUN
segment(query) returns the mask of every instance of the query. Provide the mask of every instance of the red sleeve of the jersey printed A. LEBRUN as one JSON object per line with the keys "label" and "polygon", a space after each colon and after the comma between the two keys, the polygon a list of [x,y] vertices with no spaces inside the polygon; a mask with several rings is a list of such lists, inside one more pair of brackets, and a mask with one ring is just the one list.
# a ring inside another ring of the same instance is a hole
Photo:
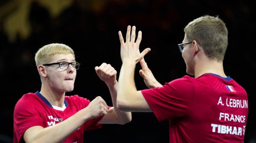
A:
{"label": "red sleeve of the jersey printed A. LEBRUN", "polygon": [[142,90],[142,94],[158,121],[183,117],[194,95],[191,77],[165,83],[163,87]]}

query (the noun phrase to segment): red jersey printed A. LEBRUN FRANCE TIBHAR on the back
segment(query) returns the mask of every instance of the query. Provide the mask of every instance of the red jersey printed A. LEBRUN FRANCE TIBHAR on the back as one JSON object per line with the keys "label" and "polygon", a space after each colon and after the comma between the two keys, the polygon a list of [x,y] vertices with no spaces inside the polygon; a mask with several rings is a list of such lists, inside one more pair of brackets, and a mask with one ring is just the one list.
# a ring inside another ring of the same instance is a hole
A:
{"label": "red jersey printed A. LEBRUN FRANCE TIBHAR on the back", "polygon": [[229,76],[186,75],[142,94],[159,122],[169,120],[169,142],[244,141],[247,93]]}

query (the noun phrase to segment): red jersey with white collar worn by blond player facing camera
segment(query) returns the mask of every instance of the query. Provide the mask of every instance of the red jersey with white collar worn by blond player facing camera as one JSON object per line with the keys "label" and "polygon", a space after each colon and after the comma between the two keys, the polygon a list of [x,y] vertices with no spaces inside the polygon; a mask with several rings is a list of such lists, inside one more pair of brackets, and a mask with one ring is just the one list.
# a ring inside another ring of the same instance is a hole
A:
{"label": "red jersey with white collar worn by blond player facing camera", "polygon": [[[87,107],[90,101],[78,95],[66,96],[66,108],[56,110],[39,92],[25,94],[18,100],[13,114],[13,142],[17,143],[22,139],[24,132],[32,126],[49,127],[59,122],[65,121],[77,111]],[[83,132],[85,130],[97,129],[101,127],[98,122],[102,116],[84,123],[74,131],[63,142],[83,142]],[[72,123],[71,123],[72,124]]]}

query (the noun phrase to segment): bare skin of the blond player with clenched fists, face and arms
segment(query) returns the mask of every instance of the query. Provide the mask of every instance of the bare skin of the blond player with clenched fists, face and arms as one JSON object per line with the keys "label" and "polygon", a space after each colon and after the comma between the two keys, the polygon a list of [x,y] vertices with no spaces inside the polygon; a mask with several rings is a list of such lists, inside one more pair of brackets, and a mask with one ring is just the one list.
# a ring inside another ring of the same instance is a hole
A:
{"label": "bare skin of the blond player with clenched fists, face and arms", "polygon": [[[50,63],[75,62],[75,58],[73,54],[56,54],[50,61]],[[37,69],[40,76],[43,77],[40,93],[52,105],[62,107],[66,92],[71,92],[74,89],[76,70],[71,65],[67,70],[60,69],[58,65],[39,65]],[[98,96],[86,108],[81,109],[63,122],[47,128],[41,126],[30,127],[24,133],[24,140],[26,142],[62,142],[84,122],[99,116],[104,116],[99,121],[99,123],[104,124],[126,124],[131,122],[131,112],[120,111],[116,107],[118,86],[116,70],[110,64],[102,63],[99,67],[95,67],[95,71],[110,89],[113,101],[112,108],[108,109],[105,101]]]}

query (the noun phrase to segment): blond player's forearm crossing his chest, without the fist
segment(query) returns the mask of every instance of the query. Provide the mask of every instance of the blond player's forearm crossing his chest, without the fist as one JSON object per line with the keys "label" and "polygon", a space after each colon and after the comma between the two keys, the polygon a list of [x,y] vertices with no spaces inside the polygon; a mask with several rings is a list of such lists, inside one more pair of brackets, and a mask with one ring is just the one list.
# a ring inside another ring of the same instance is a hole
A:
{"label": "blond player's forearm crossing his chest, without the fist", "polygon": [[[85,109],[85,108],[84,108]],[[77,130],[84,122],[89,120],[85,116],[85,110],[80,110],[67,120],[60,122],[54,126],[42,128],[39,126],[29,128],[25,134],[26,142],[62,142],[75,130]]]}

